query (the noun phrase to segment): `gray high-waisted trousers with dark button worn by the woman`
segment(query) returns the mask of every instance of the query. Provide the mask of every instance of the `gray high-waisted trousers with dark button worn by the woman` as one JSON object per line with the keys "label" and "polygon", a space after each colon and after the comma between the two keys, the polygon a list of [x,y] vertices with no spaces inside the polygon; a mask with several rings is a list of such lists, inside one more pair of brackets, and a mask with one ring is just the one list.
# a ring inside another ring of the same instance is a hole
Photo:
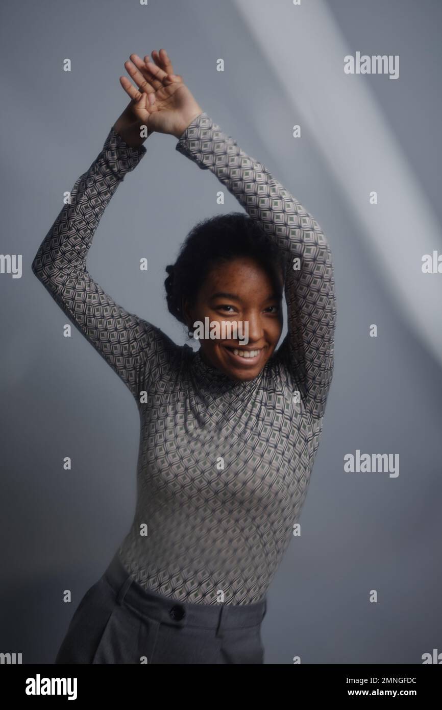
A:
{"label": "gray high-waisted trousers with dark button worn by the woman", "polygon": [[267,599],[195,604],[145,591],[117,552],[80,601],[55,663],[263,663],[266,608]]}

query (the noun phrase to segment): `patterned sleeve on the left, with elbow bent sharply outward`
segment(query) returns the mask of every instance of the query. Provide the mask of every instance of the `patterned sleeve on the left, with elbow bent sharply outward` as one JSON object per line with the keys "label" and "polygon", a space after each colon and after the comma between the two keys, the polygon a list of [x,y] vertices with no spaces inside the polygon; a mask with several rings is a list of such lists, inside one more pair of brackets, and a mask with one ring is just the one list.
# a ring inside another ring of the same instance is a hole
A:
{"label": "patterned sleeve on the left, with elbow bent sharply outward", "polygon": [[[32,271],[75,327],[99,351],[138,398],[145,359],[155,361],[161,332],[128,313],[94,281],[86,268],[92,238],[107,204],[146,149],[131,148],[112,128],[89,170],[75,182],[32,263]],[[150,352],[149,352],[150,349]]]}

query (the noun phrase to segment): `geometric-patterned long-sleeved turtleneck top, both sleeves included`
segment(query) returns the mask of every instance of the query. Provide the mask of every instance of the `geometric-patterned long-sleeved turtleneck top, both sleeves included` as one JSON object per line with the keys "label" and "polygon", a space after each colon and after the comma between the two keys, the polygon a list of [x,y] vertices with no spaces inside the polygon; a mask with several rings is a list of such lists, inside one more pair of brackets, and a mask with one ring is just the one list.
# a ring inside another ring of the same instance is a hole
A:
{"label": "geometric-patterned long-sleeved turtleneck top, both sleeves included", "polygon": [[146,153],[114,129],[32,270],[138,406],[137,503],[121,562],[145,589],[175,600],[253,603],[287,550],[319,447],[333,375],[331,251],[314,218],[206,112],[175,147],[214,173],[286,256],[288,333],[255,379],[231,380],[88,273],[101,215]]}

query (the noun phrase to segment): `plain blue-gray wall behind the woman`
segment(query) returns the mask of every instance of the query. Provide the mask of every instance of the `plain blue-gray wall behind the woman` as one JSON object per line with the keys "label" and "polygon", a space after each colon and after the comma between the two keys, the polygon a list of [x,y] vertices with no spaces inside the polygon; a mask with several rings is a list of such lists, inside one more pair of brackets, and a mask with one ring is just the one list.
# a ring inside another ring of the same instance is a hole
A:
{"label": "plain blue-gray wall behind the woman", "polygon": [[[23,662],[53,662],[79,599],[128,532],[139,437],[131,393],[79,332],[62,337],[66,317],[31,262],[60,212],[62,193],[87,170],[127,103],[118,82],[126,74],[123,62],[132,52],[143,56],[160,47],[201,107],[314,214],[333,251],[335,373],[302,536],[292,540],[267,596],[266,662],[291,663],[300,655],[315,664],[420,663],[424,652],[442,650],[441,360],[407,319],[394,279],[385,278],[373,258],[370,235],[319,150],[318,136],[287,101],[285,89],[307,71],[309,59],[297,55],[295,41],[288,43],[293,62],[275,73],[266,55],[277,50],[275,35],[264,48],[239,5],[47,0],[1,9],[0,251],[23,255],[23,275],[0,274],[0,650],[22,652]],[[316,57],[321,28],[307,35],[303,23],[309,13],[327,10],[326,23],[330,28],[333,18],[346,53],[400,55],[398,80],[346,78],[365,82],[394,133],[426,196],[422,219],[431,209],[438,224],[427,236],[440,251],[442,5],[302,0],[294,8],[272,0],[271,6],[286,33],[292,27],[311,38]],[[247,11],[268,7],[261,0]],[[65,58],[72,60],[70,73],[62,71]],[[223,73],[216,72],[218,58],[226,62]],[[329,65],[330,58],[322,61]],[[342,57],[336,75],[341,80]],[[326,116],[332,107],[321,72],[314,81]],[[360,119],[358,107],[344,108],[350,131]],[[314,116],[316,106],[311,111]],[[299,122],[303,137],[294,141],[292,125]],[[367,151],[372,137],[360,138]],[[179,155],[175,143],[158,134],[146,141],[148,155],[101,219],[88,269],[127,310],[183,343],[165,305],[165,265],[197,219],[241,207],[231,195],[217,205],[216,178]],[[332,148],[351,160],[350,140],[340,137]],[[354,168],[363,173],[364,164]],[[380,164],[380,175],[388,168]],[[400,197],[406,209],[416,196]],[[360,199],[365,205],[367,192]],[[394,214],[386,224],[397,243],[402,231]],[[404,234],[404,250],[413,240],[418,243],[419,230]],[[148,273],[138,271],[141,256],[149,259]],[[442,330],[441,302],[428,297],[419,272],[420,263],[404,269],[401,280],[419,302],[431,337]],[[426,278],[440,294],[442,275]],[[378,326],[376,339],[368,337],[371,323]],[[344,473],[343,457],[355,449],[399,453],[399,477]],[[62,469],[66,455],[70,472]],[[63,589],[72,589],[72,604],[62,602]],[[371,589],[378,603],[369,602]]]}

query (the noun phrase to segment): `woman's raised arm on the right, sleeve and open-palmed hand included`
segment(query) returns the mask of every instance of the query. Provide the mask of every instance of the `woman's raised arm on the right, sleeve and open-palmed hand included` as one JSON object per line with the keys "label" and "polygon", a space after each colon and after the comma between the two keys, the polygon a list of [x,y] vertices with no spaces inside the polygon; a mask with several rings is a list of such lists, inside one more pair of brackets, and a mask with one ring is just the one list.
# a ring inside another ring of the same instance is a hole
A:
{"label": "woman's raised arm on the right, sleeve and open-palmed hand included", "polygon": [[[315,219],[269,170],[242,151],[202,111],[182,77],[172,74],[165,50],[160,53],[163,62],[158,53],[153,53],[155,64],[147,56],[143,61],[131,55],[133,64],[126,66],[138,87],[149,92],[146,123],[155,131],[175,136],[177,151],[200,168],[211,170],[287,257],[288,333],[275,362],[293,390],[300,391],[311,415],[320,418],[333,376],[336,323],[328,242]],[[128,94],[135,95],[136,89],[126,82]]]}

